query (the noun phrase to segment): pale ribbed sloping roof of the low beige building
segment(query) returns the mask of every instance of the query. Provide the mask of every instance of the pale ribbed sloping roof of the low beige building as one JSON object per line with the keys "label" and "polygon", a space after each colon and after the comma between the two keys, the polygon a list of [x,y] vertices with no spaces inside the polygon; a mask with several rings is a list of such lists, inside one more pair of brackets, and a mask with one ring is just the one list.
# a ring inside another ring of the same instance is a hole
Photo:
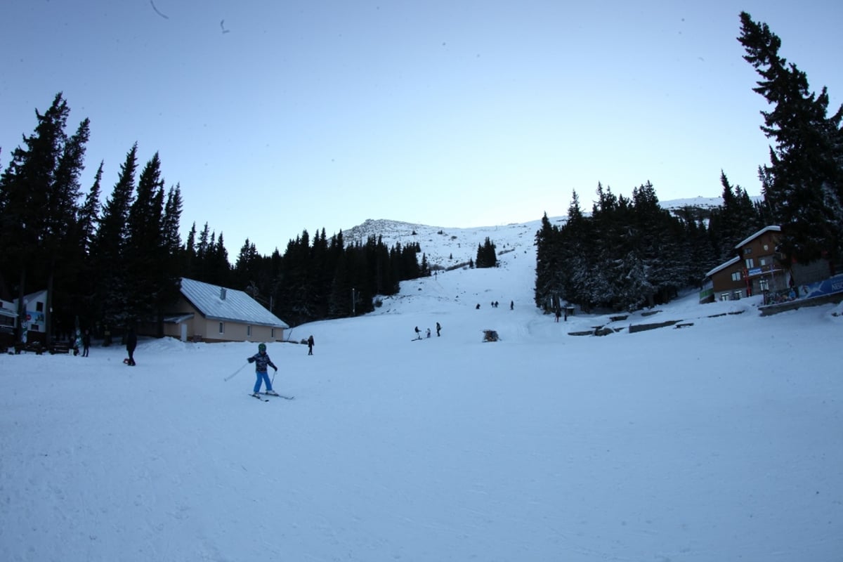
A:
{"label": "pale ribbed sloping roof of the low beige building", "polygon": [[182,277],[181,294],[205,318],[272,328],[289,328],[281,318],[263,308],[259,302],[243,291]]}

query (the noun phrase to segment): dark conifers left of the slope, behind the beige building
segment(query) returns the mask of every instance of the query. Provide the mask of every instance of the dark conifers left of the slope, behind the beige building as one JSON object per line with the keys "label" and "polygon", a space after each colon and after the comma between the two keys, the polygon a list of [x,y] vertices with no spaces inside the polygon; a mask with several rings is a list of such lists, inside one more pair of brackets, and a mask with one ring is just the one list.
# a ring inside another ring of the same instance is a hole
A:
{"label": "dark conifers left of the slope, behind the beige building", "polygon": [[207,223],[201,231],[194,223],[182,244],[180,185],[165,190],[158,153],[138,173],[132,146],[101,203],[104,163],[87,193],[79,181],[89,120],[68,134],[69,115],[61,93],[43,114],[36,110],[35,131],[0,174],[0,296],[17,298],[22,315],[24,296],[47,289],[48,342],[54,329],[119,333],[140,321],[153,321],[163,335],[181,277],[250,292],[295,324],[369,312],[374,295],[429,275],[423,254],[418,265],[418,244],[389,249],[369,239],[346,246],[342,233],[329,240],[324,228],[312,244],[304,231],[283,255],[260,256],[247,239],[234,266],[223,233]]}

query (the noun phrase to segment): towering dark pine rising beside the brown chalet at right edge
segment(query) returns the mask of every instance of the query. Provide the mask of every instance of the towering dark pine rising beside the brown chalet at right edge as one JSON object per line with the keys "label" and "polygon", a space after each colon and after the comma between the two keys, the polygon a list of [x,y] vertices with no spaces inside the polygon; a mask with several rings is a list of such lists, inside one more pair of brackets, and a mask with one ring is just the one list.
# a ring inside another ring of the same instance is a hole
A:
{"label": "towering dark pine rising beside the brown chalet at right edge", "polygon": [[788,263],[839,257],[843,240],[843,105],[828,116],[829,95],[808,87],[806,74],[779,56],[781,40],[767,24],[742,12],[738,40],[744,59],[761,79],[754,92],[771,111],[762,111],[761,130],[775,142],[771,164],[760,168],[765,202],[781,225],[781,251]]}

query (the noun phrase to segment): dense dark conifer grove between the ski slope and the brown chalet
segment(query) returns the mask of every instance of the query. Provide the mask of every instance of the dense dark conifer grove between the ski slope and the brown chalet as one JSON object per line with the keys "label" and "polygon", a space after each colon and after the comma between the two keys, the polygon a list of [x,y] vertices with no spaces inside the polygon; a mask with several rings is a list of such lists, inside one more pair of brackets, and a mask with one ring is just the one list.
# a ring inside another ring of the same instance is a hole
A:
{"label": "dense dark conifer grove between the ski slope and the brown chalet", "polygon": [[631,199],[598,184],[590,215],[574,191],[563,224],[542,217],[536,233],[535,302],[547,312],[564,302],[583,309],[635,310],[668,302],[699,286],[706,271],[733,257],[734,246],[765,222],[746,190],[721,175],[723,205],[702,215],[659,206],[651,183]]}

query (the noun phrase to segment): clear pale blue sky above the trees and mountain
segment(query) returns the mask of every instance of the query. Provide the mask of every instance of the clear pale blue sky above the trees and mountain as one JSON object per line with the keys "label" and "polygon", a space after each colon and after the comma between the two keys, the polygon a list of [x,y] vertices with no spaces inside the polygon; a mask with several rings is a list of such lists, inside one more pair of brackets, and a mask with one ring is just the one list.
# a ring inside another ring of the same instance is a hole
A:
{"label": "clear pale blue sky above the trees and mountain", "polygon": [[83,190],[156,151],[234,261],[367,218],[442,227],[564,215],[598,182],[659,199],[760,195],[765,100],[748,11],[843,103],[839,0],[8,0],[0,164],[63,92],[91,120]]}

